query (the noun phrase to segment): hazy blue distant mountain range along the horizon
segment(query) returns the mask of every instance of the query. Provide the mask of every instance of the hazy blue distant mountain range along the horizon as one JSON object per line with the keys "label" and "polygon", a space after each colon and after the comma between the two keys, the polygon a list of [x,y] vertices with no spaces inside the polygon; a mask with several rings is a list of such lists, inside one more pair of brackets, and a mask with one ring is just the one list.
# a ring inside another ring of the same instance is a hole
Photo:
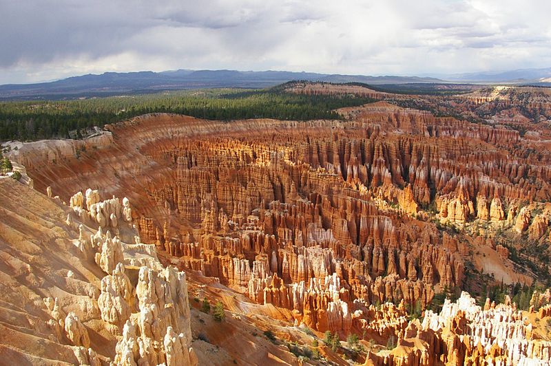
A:
{"label": "hazy blue distant mountain range along the horizon", "polygon": [[291,80],[370,85],[413,83],[520,83],[551,86],[551,68],[521,69],[509,72],[481,72],[444,75],[441,78],[418,76],[363,76],[317,74],[313,72],[240,72],[235,70],[187,70],[166,72],[106,72],[87,74],[36,84],[0,85],[0,99],[61,99],[159,92],[212,87],[264,88]]}

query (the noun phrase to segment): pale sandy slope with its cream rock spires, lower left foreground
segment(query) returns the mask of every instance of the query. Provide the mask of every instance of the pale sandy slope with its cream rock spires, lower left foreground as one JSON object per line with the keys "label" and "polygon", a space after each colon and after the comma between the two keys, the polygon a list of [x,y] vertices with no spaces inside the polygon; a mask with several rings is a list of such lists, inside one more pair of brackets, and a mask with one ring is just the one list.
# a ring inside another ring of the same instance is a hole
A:
{"label": "pale sandy slope with its cream rock spires, lower left foreground", "polygon": [[197,364],[185,273],[140,243],[126,198],[67,207],[13,180],[0,195],[2,362]]}

